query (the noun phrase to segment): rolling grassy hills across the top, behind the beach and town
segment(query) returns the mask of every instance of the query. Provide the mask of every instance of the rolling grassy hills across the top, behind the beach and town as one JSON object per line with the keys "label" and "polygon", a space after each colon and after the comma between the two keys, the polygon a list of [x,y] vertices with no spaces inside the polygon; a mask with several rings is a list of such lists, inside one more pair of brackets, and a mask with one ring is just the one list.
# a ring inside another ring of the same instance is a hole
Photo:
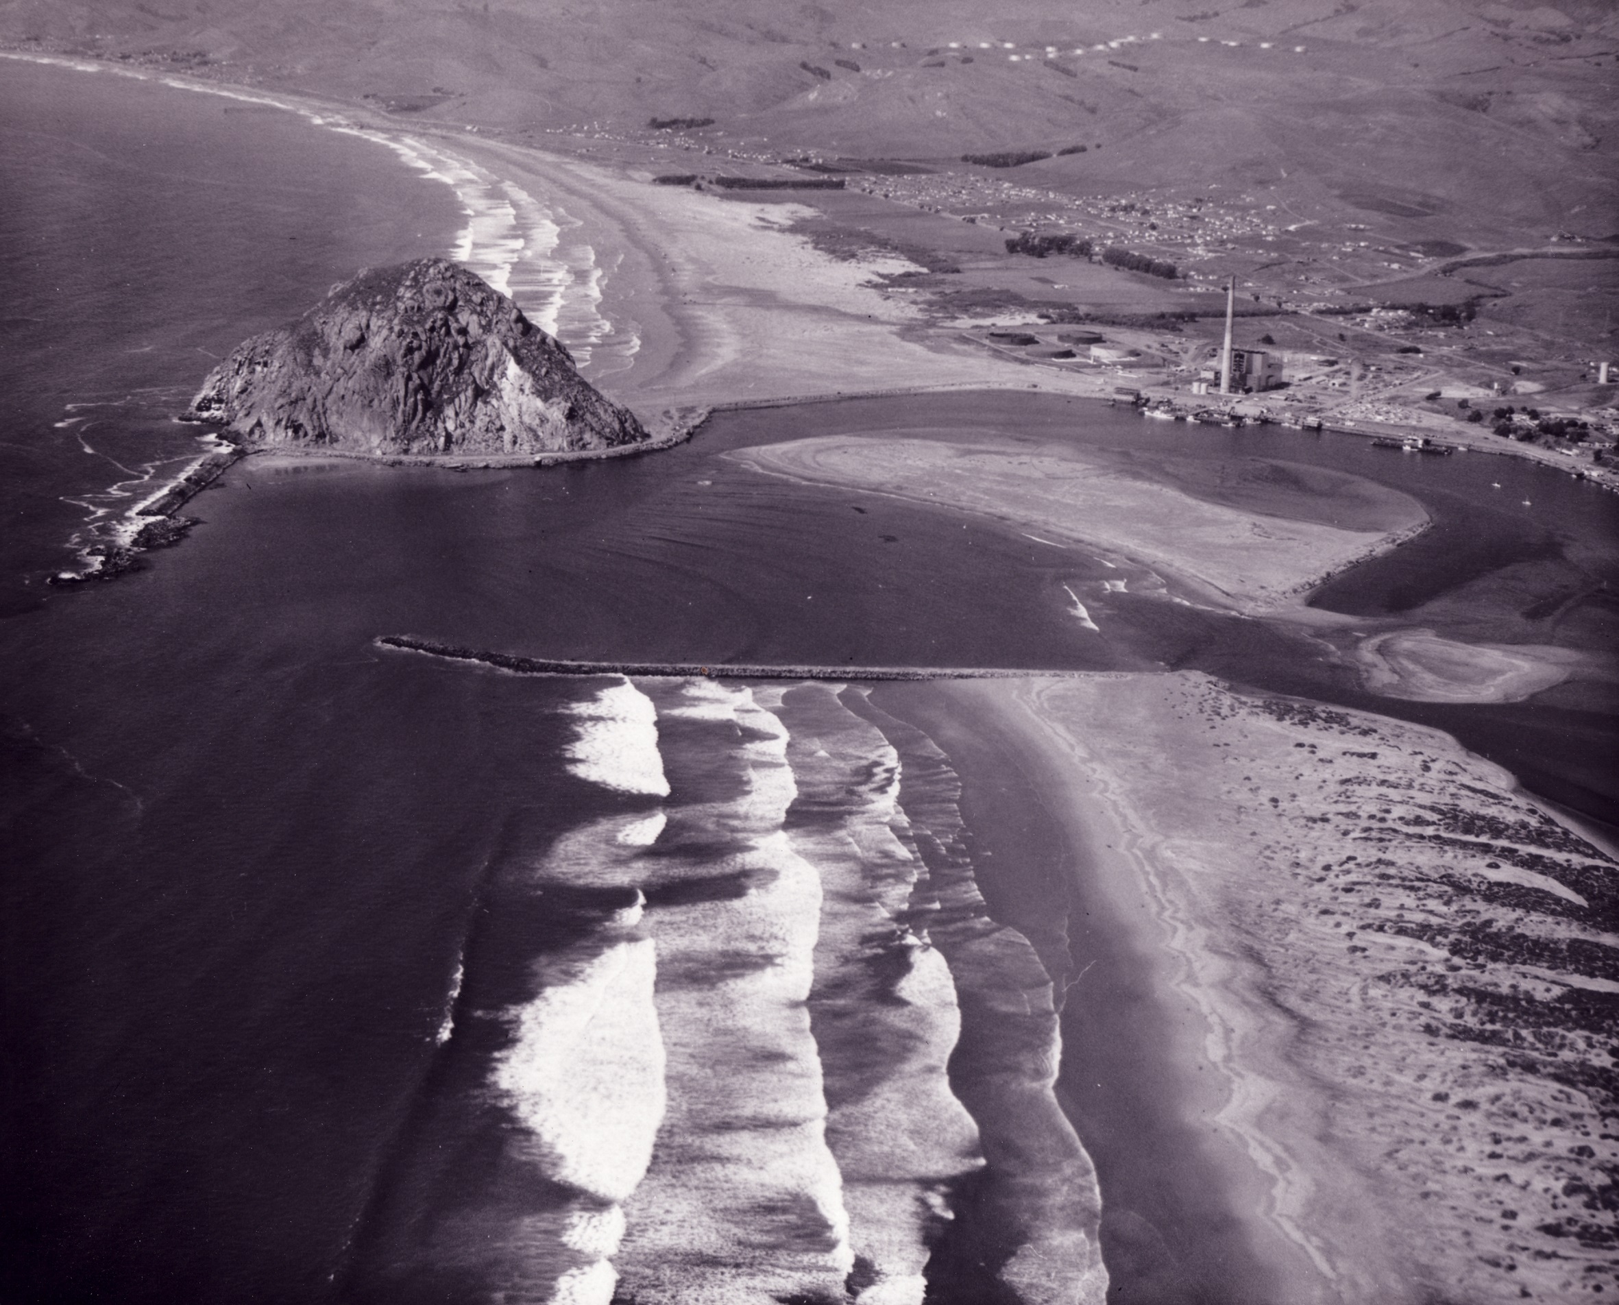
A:
{"label": "rolling grassy hills across the top, behind the beach and town", "polygon": [[[860,185],[1271,301],[1619,235],[1609,0],[0,0],[0,45],[515,139],[683,142],[680,170],[910,160],[926,172]],[[962,162],[996,152],[1051,157]],[[1595,355],[1613,266],[1525,298],[1512,329]]]}

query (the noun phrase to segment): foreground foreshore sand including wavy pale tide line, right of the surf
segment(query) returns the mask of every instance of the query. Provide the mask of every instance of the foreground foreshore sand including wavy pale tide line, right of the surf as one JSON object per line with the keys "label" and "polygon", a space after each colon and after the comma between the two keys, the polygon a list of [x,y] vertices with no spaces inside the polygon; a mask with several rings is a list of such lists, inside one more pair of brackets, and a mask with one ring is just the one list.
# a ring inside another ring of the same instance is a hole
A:
{"label": "foreground foreshore sand including wavy pale tide line, right of the surf", "polygon": [[[1075,687],[1106,695],[1137,680],[1093,672]],[[1156,871],[1156,831],[1122,777],[1039,703],[1054,683],[1031,675],[942,695],[965,722],[960,742],[997,740],[1064,844],[1059,1096],[1103,1174],[1104,1253],[1143,1261],[1164,1299],[1339,1302],[1342,1284],[1285,1195],[1289,1166],[1253,1125],[1264,1096],[1235,1067],[1240,1017],[1217,999],[1222,962],[1206,970],[1196,957],[1209,929]]]}

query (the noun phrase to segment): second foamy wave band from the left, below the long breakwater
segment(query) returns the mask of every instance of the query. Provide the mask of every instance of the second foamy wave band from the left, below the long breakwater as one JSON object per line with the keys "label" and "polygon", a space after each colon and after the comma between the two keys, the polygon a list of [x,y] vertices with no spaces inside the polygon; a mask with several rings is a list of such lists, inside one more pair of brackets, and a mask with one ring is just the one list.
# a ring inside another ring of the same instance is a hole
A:
{"label": "second foamy wave band from the left, below the long breakwater", "polygon": [[821,886],[782,829],[787,733],[746,688],[643,685],[677,795],[646,886],[669,1112],[618,1269],[683,1305],[835,1297],[853,1253],[805,1012]]}

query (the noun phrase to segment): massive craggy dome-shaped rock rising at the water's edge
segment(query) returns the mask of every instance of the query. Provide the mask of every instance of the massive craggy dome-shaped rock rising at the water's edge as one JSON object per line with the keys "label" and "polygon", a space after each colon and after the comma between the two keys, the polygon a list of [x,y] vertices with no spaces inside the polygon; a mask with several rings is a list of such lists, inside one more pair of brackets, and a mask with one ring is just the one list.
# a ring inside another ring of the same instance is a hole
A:
{"label": "massive craggy dome-shaped rock rising at the water's edge", "polygon": [[356,453],[541,453],[649,436],[505,295],[447,259],[377,267],[243,342],[186,413]]}

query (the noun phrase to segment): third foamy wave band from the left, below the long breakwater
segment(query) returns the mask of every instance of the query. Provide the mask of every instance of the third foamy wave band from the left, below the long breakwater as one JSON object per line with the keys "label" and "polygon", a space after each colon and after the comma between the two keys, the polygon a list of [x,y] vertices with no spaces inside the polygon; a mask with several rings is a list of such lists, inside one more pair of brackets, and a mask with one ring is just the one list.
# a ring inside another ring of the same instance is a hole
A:
{"label": "third foamy wave band from the left, below the long breakwater", "polygon": [[921,861],[895,835],[899,756],[835,687],[764,690],[792,732],[797,852],[822,876],[810,1017],[826,1073],[827,1140],[843,1174],[856,1299],[921,1305],[945,1187],[983,1161],[950,1091],[960,1033],[944,955],[908,925]]}

